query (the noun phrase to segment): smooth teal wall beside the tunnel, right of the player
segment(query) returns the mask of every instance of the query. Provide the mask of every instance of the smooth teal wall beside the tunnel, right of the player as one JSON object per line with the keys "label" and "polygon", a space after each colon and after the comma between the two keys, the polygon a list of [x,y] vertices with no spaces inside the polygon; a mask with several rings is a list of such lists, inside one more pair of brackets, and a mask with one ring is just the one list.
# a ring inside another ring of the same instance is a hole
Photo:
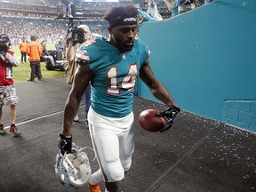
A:
{"label": "smooth teal wall beside the tunnel, right of the player", "polygon": [[[255,20],[255,0],[215,0],[143,23],[140,39],[180,108],[256,132]],[[140,80],[138,95],[156,100]]]}

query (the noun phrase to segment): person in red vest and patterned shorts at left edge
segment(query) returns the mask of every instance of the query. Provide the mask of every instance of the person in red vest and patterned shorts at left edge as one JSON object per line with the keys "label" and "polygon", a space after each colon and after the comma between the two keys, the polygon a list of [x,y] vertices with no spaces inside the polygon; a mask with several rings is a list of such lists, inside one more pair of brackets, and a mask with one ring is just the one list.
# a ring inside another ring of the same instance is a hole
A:
{"label": "person in red vest and patterned shorts at left edge", "polygon": [[11,126],[9,132],[13,133],[14,137],[20,136],[20,131],[15,125],[17,116],[17,103],[20,101],[14,82],[12,79],[12,67],[19,66],[19,60],[15,53],[10,50],[11,40],[6,34],[0,35],[0,135],[4,134],[3,124],[3,106],[4,99],[7,101],[5,105],[10,106]]}

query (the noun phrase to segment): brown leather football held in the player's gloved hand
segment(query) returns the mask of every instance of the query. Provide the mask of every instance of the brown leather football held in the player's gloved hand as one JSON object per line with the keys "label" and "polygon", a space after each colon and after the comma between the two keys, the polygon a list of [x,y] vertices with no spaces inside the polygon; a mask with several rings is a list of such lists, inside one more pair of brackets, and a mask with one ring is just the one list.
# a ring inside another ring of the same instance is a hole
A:
{"label": "brown leather football held in the player's gloved hand", "polygon": [[159,132],[161,127],[167,124],[163,116],[156,116],[159,113],[156,109],[147,109],[140,113],[140,126],[148,132]]}

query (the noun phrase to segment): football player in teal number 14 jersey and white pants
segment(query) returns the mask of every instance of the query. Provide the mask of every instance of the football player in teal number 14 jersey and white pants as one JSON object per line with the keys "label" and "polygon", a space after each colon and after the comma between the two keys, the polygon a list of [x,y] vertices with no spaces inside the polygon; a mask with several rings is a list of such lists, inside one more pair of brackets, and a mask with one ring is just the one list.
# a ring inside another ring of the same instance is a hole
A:
{"label": "football player in teal number 14 jersey and white pants", "polygon": [[76,50],[79,65],[65,105],[59,146],[62,154],[71,152],[71,126],[84,91],[91,82],[89,131],[100,169],[92,174],[88,186],[90,191],[98,192],[100,182],[105,182],[105,191],[121,192],[124,173],[131,167],[134,150],[132,105],[137,76],[140,74],[152,94],[168,106],[161,116],[172,118],[180,108],[154,76],[149,66],[148,46],[135,39],[138,30],[135,8],[112,7],[104,19],[108,21],[109,38],[96,38]]}

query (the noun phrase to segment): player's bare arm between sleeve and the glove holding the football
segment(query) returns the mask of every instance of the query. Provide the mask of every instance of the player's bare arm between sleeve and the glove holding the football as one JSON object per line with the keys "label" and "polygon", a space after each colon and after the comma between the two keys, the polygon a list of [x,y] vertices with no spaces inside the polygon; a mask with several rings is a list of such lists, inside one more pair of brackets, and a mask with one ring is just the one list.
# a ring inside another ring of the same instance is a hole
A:
{"label": "player's bare arm between sleeve and the glove holding the football", "polygon": [[149,66],[149,60],[146,61],[144,66],[140,68],[140,78],[142,81],[148,85],[150,92],[158,100],[162,100],[167,106],[176,106],[176,102],[172,99],[171,94],[166,90],[163,84],[161,84],[156,76],[153,74],[152,69]]}

